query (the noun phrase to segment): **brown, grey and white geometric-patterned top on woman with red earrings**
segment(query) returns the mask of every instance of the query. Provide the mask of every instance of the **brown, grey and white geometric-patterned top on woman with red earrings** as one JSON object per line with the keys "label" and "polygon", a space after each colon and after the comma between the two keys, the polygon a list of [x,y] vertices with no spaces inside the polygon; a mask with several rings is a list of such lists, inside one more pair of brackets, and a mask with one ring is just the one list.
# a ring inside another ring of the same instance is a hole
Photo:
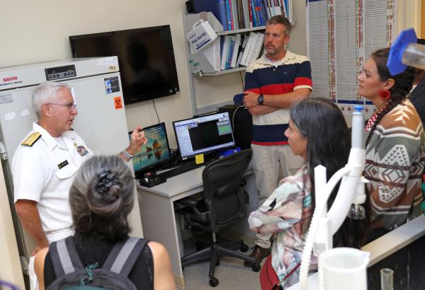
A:
{"label": "brown, grey and white geometric-patterned top on woman with red earrings", "polygon": [[410,100],[382,117],[366,148],[364,176],[370,183],[373,228],[391,230],[421,212],[425,136]]}

